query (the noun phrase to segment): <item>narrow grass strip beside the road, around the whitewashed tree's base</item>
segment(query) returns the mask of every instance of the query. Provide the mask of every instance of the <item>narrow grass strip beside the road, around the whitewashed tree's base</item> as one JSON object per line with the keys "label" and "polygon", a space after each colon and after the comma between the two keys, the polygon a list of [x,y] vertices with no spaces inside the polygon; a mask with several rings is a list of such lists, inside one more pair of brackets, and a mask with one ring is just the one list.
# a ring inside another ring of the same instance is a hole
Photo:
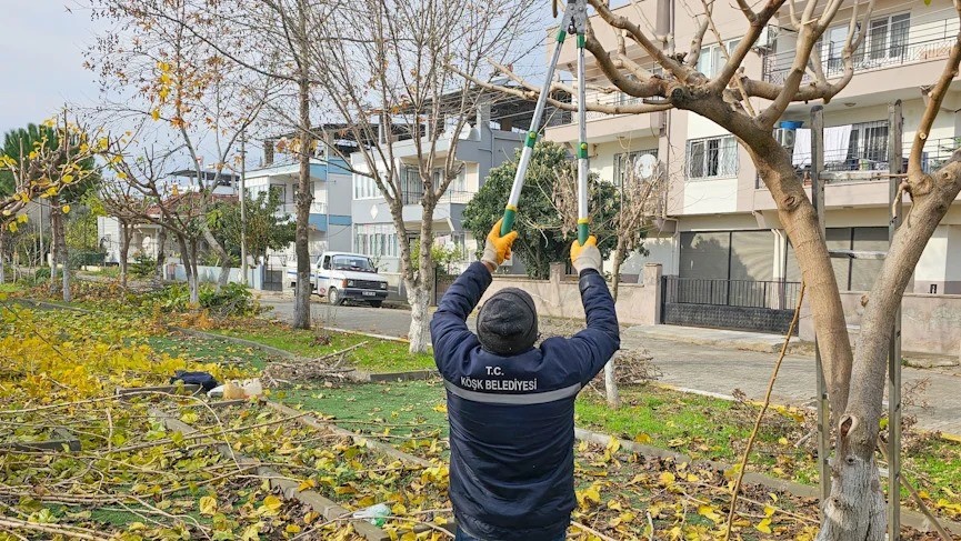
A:
{"label": "narrow grass strip beside the road, around the whitewashed tree's base", "polygon": [[271,345],[302,357],[323,357],[367,342],[348,353],[347,360],[367,372],[408,372],[433,370],[433,355],[412,354],[406,342],[368,338],[361,334],[331,332],[323,329],[291,329],[284,324],[258,322],[213,331]]}

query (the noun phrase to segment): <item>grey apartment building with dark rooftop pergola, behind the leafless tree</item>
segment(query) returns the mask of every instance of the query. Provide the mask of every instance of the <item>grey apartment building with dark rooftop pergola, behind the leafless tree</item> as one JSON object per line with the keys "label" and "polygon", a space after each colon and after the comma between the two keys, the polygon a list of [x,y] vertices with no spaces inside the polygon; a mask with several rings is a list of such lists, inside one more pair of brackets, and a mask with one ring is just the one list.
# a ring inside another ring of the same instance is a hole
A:
{"label": "grey apartment building with dark rooftop pergola, behind the leafless tree", "polygon": [[[524,100],[482,100],[460,132],[447,129],[437,141],[436,160],[442,162],[451,149],[454,149],[456,159],[463,163],[463,168],[434,209],[436,243],[457,247],[463,254],[464,263],[472,259],[477,240],[470,231],[463,229],[463,209],[483,186],[491,168],[514,159],[515,150],[523,144],[532,112],[533,103]],[[453,144],[454,139],[457,144]],[[423,208],[420,204],[423,183],[418,170],[418,146],[414,143],[416,141],[402,134],[396,136],[391,143],[397,161],[396,170],[401,174],[403,221],[409,231],[407,239],[398,236],[390,209],[373,179],[364,174],[353,176],[353,251],[370,256],[386,272],[400,271],[400,242],[414,239],[423,220]],[[387,156],[387,152],[383,154]],[[351,166],[354,171],[368,170],[360,152],[351,156]],[[384,167],[382,171],[386,169]],[[442,172],[438,169],[433,174],[439,181]],[[520,271],[520,264],[515,267],[514,271]]]}

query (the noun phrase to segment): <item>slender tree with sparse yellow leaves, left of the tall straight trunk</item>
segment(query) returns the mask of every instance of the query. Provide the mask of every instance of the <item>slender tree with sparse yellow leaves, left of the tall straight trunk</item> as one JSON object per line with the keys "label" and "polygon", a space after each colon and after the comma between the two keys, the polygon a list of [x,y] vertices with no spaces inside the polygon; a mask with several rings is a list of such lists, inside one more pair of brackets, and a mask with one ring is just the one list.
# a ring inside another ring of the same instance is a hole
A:
{"label": "slender tree with sparse yellow leaves, left of the tall straight trunk", "polygon": [[[87,66],[94,70],[108,101],[101,113],[121,121],[160,122],[180,140],[181,159],[194,179],[201,212],[214,189],[229,183],[230,163],[241,133],[263,111],[276,87],[267,78],[230,62],[201,34],[231,36],[224,21],[189,0],[92,0],[97,18],[120,29],[98,37]],[[113,94],[119,94],[117,99]],[[204,162],[203,153],[214,159]],[[209,169],[206,169],[209,168]],[[198,224],[220,259],[218,285],[227,283],[231,259],[210,232]]]}

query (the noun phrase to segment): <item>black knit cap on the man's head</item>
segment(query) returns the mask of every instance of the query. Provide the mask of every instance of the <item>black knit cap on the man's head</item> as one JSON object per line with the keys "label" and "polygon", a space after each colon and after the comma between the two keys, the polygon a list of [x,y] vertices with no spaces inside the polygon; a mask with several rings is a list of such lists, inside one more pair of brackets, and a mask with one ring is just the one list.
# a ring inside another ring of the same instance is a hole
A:
{"label": "black knit cap on the man's head", "polygon": [[531,349],[538,339],[534,300],[518,288],[504,288],[492,294],[478,314],[478,338],[483,349],[498,355]]}

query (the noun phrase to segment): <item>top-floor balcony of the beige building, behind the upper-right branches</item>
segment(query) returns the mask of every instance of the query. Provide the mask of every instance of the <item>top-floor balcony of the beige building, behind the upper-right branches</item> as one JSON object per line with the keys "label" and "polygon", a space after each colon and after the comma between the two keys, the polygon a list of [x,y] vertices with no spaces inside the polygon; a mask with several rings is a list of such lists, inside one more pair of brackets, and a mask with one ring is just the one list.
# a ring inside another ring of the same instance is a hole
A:
{"label": "top-floor balcony of the beige building, behind the upper-right branches", "polygon": [[[948,58],[958,33],[957,19],[910,26],[907,30],[903,27],[895,27],[895,24],[898,23],[891,22],[889,27],[885,23],[878,24],[877,21],[871,21],[871,30],[868,31],[867,39],[862,41],[861,48],[854,52],[855,79],[858,78],[857,74],[868,71],[943,60]],[[830,43],[815,47],[819,47],[821,51],[824,76],[829,80],[838,79],[844,73],[844,64],[841,59],[843,38],[839,40],[837,36],[831,36],[829,32],[825,32],[824,36],[828,37]],[[793,60],[794,50],[765,54],[763,58],[763,80],[782,84],[790,73]],[[891,88],[899,83],[917,86],[915,81],[908,79],[898,77],[894,80],[891,78],[885,81],[885,87]],[[804,74],[802,83],[812,80],[813,77],[808,72]],[[874,87],[873,90],[877,92],[878,87]]]}

